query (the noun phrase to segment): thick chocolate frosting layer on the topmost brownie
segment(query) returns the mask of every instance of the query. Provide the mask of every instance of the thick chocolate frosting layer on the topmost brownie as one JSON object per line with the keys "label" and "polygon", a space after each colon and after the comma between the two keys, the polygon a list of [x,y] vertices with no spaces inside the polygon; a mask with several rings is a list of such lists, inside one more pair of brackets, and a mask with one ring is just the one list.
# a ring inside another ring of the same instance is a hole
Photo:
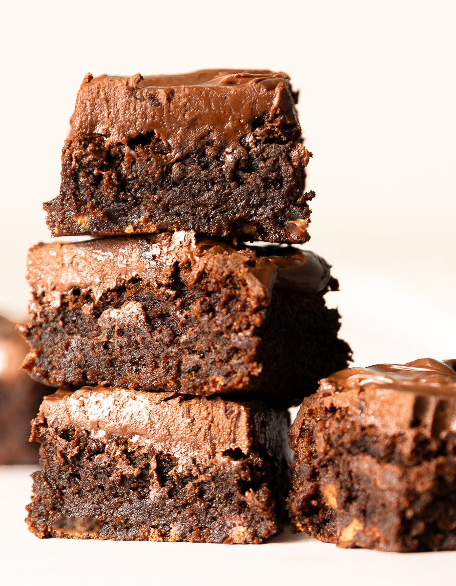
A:
{"label": "thick chocolate frosting layer on the topmost brownie", "polygon": [[[300,131],[290,78],[269,70],[201,70],[174,76],[84,77],[73,131],[104,135],[107,144],[146,132],[179,158],[210,134],[214,147],[241,148],[252,122],[276,115]],[[302,145],[298,145],[301,150]]]}

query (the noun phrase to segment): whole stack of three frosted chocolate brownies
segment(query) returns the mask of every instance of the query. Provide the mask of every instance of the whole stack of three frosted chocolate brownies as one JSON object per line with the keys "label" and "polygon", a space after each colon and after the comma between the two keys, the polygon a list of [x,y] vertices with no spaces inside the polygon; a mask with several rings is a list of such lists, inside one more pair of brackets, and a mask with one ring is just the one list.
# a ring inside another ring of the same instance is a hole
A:
{"label": "whole stack of three frosted chocolate brownies", "polygon": [[33,421],[39,537],[280,531],[288,407],[350,357],[330,266],[290,246],[314,195],[296,101],[267,70],[84,78],[45,209],[97,238],[30,249],[20,326],[58,389]]}

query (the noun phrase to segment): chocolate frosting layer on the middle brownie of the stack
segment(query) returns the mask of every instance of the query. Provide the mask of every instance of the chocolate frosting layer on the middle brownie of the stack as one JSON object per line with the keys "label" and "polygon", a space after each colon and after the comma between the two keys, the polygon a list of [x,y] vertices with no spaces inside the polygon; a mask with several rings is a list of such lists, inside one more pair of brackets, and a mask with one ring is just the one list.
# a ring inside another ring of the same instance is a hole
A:
{"label": "chocolate frosting layer on the middle brownie of the stack", "polygon": [[[331,265],[311,251],[267,247],[267,255],[235,250],[215,239],[198,238],[190,231],[172,234],[147,234],[93,239],[77,243],[55,242],[30,248],[27,278],[36,295],[45,293],[57,305],[61,295],[72,288],[90,289],[96,301],[109,289],[120,287],[132,278],[155,282],[157,286],[173,281],[175,263],[192,264],[192,286],[212,258],[239,264],[258,304],[270,301],[273,287],[302,293],[322,291],[331,279]],[[280,255],[279,255],[280,254]]]}

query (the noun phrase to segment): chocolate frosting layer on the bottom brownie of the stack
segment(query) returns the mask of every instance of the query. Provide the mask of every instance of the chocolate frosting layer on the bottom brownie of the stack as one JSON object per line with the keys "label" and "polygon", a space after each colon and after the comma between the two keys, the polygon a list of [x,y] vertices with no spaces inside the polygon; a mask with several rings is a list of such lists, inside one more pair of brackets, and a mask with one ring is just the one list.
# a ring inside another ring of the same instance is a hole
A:
{"label": "chocolate frosting layer on the bottom brownie of the stack", "polygon": [[[49,427],[74,426],[94,437],[119,435],[176,456],[248,454],[259,441],[271,452],[283,445],[285,410],[220,397],[188,397],[110,387],[58,390],[44,398],[39,417]],[[265,417],[268,421],[265,421]]]}

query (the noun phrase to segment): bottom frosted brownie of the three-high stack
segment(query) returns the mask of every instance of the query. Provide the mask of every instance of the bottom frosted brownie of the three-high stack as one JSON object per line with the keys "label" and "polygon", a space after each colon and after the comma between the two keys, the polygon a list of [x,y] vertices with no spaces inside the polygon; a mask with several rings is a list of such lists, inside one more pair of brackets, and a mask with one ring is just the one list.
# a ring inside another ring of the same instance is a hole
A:
{"label": "bottom frosted brownie of the three-high stack", "polygon": [[288,412],[85,387],[45,397],[27,522],[38,537],[261,543],[280,532]]}

